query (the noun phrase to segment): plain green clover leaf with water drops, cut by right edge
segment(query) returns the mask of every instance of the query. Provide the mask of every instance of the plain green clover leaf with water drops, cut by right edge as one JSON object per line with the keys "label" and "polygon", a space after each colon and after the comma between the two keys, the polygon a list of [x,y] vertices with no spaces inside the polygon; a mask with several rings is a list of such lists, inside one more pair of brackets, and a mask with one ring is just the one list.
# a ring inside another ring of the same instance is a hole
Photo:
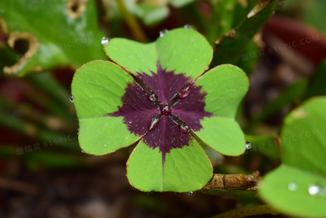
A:
{"label": "plain green clover leaf with water drops, cut by right edge", "polygon": [[314,97],[284,119],[282,164],[259,184],[259,195],[295,217],[326,217],[326,97]]}

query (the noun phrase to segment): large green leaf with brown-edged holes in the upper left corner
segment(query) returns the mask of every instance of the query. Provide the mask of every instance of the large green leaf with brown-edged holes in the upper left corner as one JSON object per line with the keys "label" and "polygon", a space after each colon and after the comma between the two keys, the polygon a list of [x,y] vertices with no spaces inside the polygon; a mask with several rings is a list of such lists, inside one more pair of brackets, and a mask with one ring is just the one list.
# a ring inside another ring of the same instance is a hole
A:
{"label": "large green leaf with brown-edged holes in the upper left corner", "polygon": [[0,8],[8,44],[14,47],[16,40],[29,43],[28,50],[18,54],[18,62],[5,67],[8,75],[23,76],[57,65],[77,68],[94,59],[107,60],[100,43],[104,33],[97,27],[93,0],[41,0],[28,4],[4,0]]}

